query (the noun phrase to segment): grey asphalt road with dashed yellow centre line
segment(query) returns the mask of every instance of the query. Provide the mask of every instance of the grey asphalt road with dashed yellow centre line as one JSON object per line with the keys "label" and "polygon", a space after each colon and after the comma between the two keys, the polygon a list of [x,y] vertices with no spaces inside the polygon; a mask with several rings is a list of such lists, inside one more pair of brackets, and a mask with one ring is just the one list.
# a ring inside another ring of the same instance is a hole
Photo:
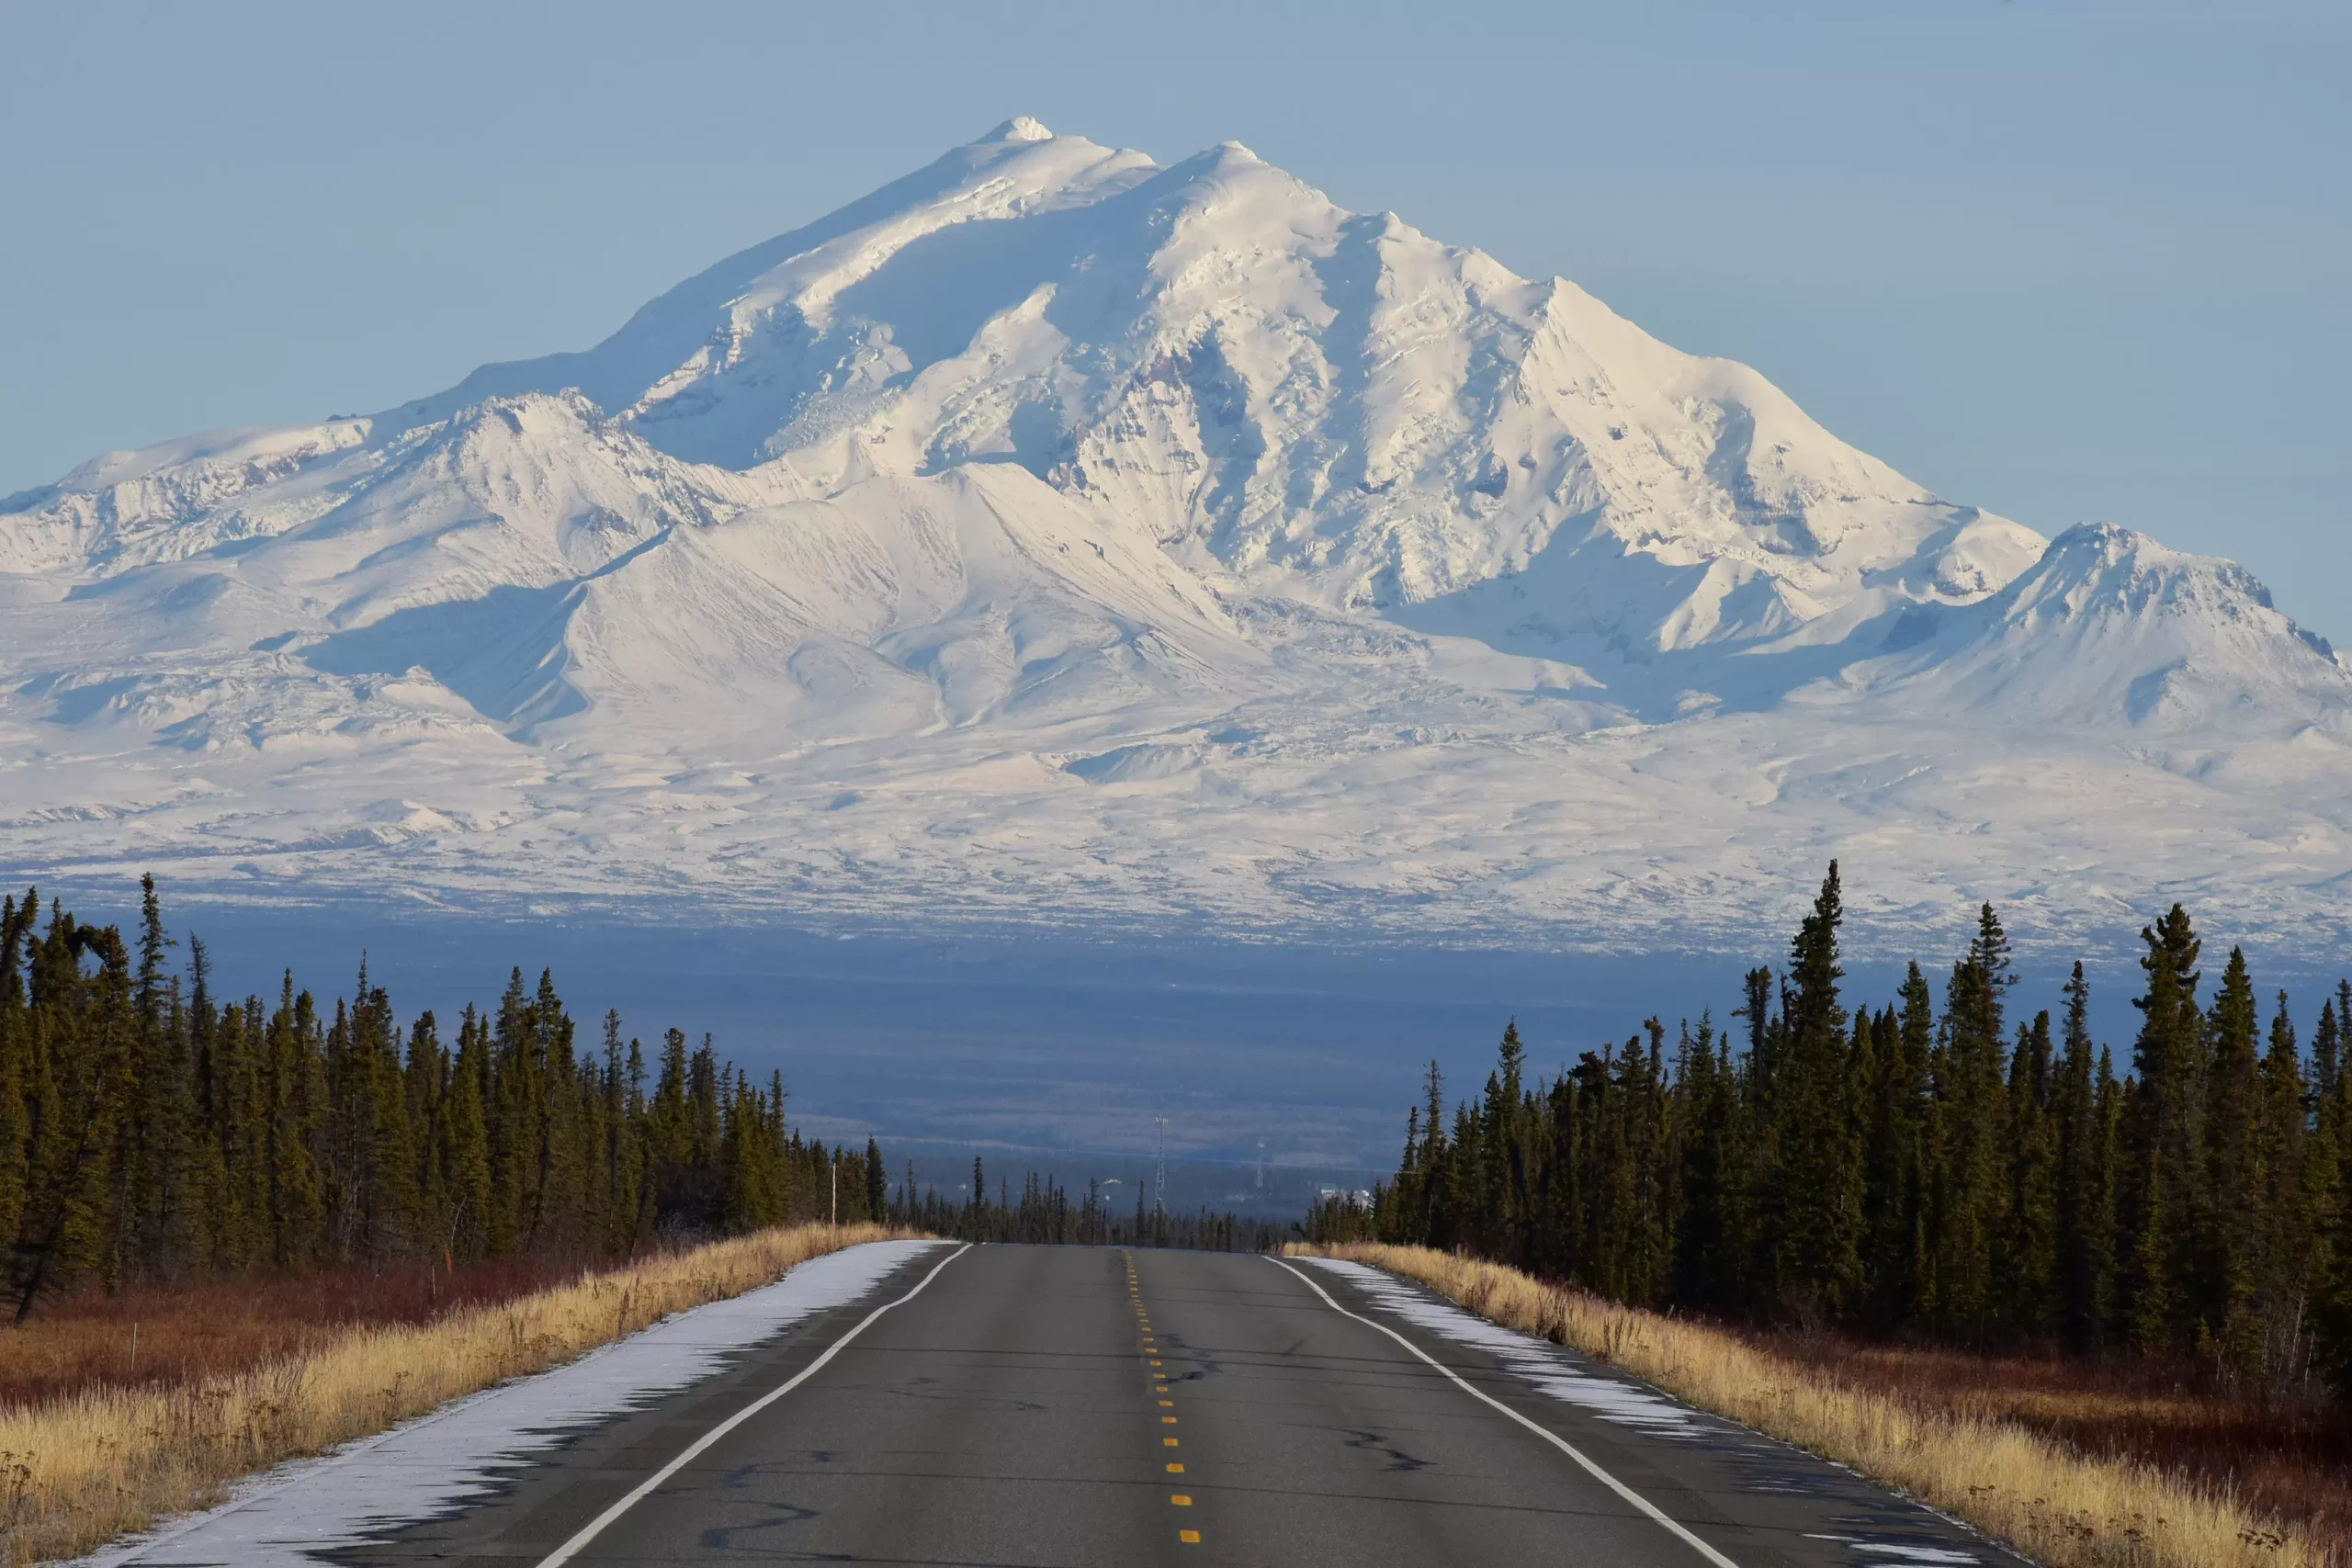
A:
{"label": "grey asphalt road with dashed yellow centre line", "polygon": [[[934,1269],[913,1300],[833,1349]],[[1334,1302],[1404,1333],[1590,1465]],[[797,1375],[569,1561],[2016,1561],[1729,1422],[1670,1434],[1550,1399],[1524,1366],[1414,1328],[1322,1269],[1044,1246],[938,1248],[734,1371],[572,1434],[494,1500],[336,1559],[541,1568]]]}

